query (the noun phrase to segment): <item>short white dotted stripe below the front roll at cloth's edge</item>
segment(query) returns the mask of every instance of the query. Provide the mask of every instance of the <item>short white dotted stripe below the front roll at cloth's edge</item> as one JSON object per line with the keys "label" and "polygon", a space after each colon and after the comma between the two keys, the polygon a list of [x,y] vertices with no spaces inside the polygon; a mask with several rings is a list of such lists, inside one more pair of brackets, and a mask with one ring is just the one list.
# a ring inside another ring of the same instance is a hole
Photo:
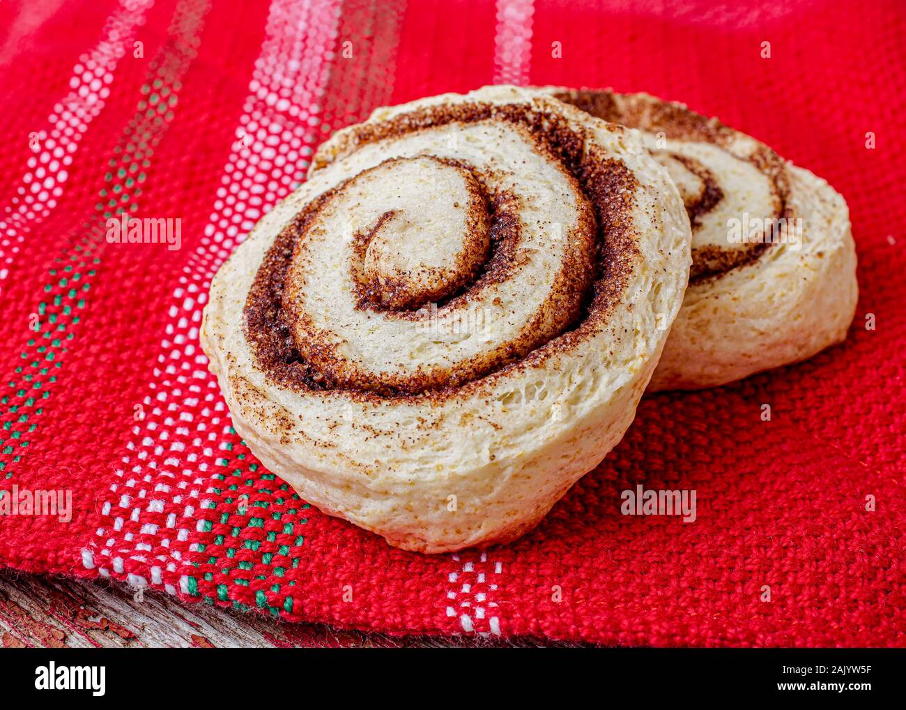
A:
{"label": "short white dotted stripe below the front roll at cloth's edge", "polygon": [[500,613],[494,598],[503,565],[488,561],[486,552],[477,560],[468,553],[454,554],[453,559],[462,562],[462,568],[448,575],[447,616],[457,617],[467,634],[500,636]]}

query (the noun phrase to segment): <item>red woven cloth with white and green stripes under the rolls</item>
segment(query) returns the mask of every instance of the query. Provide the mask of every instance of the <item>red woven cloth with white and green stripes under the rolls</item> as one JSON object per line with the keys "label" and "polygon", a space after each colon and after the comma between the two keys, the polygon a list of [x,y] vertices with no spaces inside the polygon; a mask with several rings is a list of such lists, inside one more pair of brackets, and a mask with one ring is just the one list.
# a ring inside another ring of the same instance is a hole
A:
{"label": "red woven cloth with white and green stripes under the rolls", "polygon": [[[904,645],[906,11],[674,5],[0,4],[0,488],[73,507],[0,516],[0,563],[400,633]],[[861,299],[803,365],[646,398],[524,539],[427,557],[255,460],[198,325],[332,131],[495,82],[648,91],[766,141],[848,200]],[[181,219],[181,248],[108,244],[118,209]],[[697,520],[623,516],[638,483],[697,491]]]}

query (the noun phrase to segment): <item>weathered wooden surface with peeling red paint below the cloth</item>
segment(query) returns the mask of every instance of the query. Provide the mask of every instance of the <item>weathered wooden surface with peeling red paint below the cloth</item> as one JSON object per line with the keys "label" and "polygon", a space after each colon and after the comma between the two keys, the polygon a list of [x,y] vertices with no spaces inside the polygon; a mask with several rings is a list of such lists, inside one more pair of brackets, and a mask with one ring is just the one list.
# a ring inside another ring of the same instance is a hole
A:
{"label": "weathered wooden surface with peeling red paint below the cloth", "polygon": [[548,646],[545,641],[387,637],[322,624],[284,624],[116,582],[0,570],[3,647],[448,647]]}

